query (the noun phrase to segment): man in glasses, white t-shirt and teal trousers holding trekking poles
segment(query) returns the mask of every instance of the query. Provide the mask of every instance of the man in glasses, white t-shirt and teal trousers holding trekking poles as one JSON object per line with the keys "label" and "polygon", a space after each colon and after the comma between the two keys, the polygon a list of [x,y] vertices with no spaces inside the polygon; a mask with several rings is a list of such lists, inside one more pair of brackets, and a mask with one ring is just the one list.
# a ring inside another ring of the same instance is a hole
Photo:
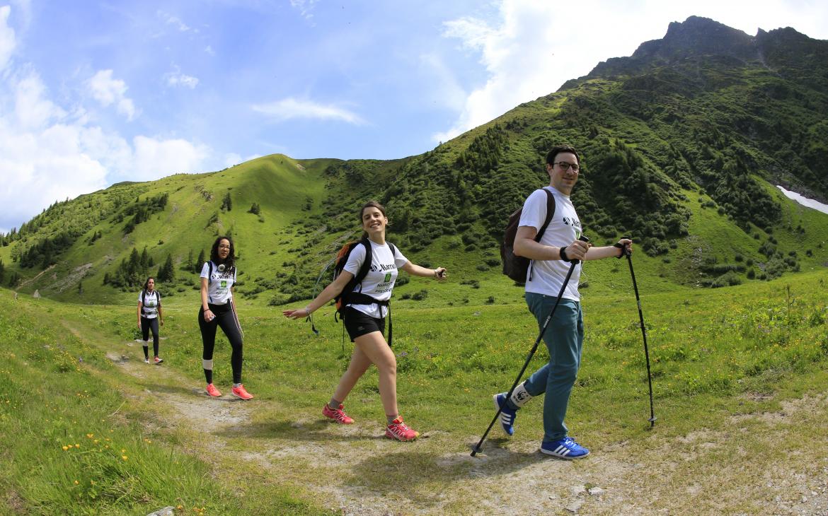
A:
{"label": "man in glasses, white t-shirt and teal trousers holding trekking poles", "polygon": [[[580,219],[570,201],[570,193],[578,181],[580,171],[580,158],[574,148],[556,146],[546,154],[549,186],[544,189],[555,198],[555,213],[540,241],[535,238],[538,228],[546,220],[546,192],[542,189],[535,190],[523,204],[514,252],[517,256],[532,260],[526,282],[527,305],[537,318],[539,327],[542,327],[556,302],[558,305],[543,334],[543,341],[549,351],[549,363],[535,371],[521,385],[517,385],[511,397],[507,398],[508,393],[494,395],[495,408],[502,408],[501,426],[508,435],[512,435],[517,409],[533,396],[545,394],[541,451],[564,459],[581,458],[590,453],[567,435],[564,424],[584,342],[584,319],[578,293],[581,265],[571,265],[570,262],[620,258],[623,256],[623,247],[632,251],[633,243],[623,238],[614,246],[593,247],[578,240],[581,236]],[[572,275],[561,293],[570,267],[574,267]],[[560,301],[558,294],[561,294]]]}

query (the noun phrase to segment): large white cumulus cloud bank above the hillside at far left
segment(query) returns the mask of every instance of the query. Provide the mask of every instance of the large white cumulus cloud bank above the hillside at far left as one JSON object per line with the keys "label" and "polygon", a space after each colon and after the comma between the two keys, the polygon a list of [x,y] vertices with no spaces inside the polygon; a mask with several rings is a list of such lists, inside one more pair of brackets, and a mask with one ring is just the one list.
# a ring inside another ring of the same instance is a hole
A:
{"label": "large white cumulus cloud bank above the hillside at far left", "polygon": [[[135,136],[90,126],[80,109],[51,101],[38,74],[0,83],[0,232],[42,208],[118,181],[159,179],[204,170],[210,150],[181,139]],[[115,102],[115,99],[111,101]]]}

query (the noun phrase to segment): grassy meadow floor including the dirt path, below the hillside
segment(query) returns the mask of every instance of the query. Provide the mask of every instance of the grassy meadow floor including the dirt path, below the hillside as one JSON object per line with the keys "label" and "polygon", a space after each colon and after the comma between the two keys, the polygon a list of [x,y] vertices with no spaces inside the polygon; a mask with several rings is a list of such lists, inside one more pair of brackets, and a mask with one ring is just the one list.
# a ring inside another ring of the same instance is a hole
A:
{"label": "grassy meadow floor including the dirt path, below the hillside", "polygon": [[[315,314],[314,336],[278,308],[239,303],[244,381],[257,396],[242,404],[201,394],[195,291],[166,301],[165,363],[154,366],[134,342],[133,306],[2,290],[0,432],[13,438],[0,452],[0,512],[556,514],[580,503],[589,514],[822,514],[828,444],[802,436],[828,432],[828,273],[667,292],[639,279],[652,429],[628,271],[612,274],[618,288],[585,297],[567,424],[593,455],[577,463],[537,453],[537,401],[513,438],[494,428],[484,456],[469,458],[493,416],[491,394],[508,389],[537,337],[517,288],[510,302],[394,303],[400,407],[423,434],[407,444],[381,438],[373,370],[346,402],[356,424],[321,418],[351,349],[345,342],[343,355],[330,307]],[[531,369],[545,358],[541,346]],[[229,393],[224,337],[215,362]]]}

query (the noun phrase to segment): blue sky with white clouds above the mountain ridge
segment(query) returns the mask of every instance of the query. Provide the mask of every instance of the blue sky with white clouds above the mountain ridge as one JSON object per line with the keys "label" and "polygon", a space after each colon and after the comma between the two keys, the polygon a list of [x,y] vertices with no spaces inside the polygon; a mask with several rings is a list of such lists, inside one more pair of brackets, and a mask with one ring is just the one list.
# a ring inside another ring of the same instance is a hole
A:
{"label": "blue sky with white clouds above the mountain ridge", "polygon": [[0,232],[123,180],[420,154],[691,15],[828,39],[802,0],[0,0]]}

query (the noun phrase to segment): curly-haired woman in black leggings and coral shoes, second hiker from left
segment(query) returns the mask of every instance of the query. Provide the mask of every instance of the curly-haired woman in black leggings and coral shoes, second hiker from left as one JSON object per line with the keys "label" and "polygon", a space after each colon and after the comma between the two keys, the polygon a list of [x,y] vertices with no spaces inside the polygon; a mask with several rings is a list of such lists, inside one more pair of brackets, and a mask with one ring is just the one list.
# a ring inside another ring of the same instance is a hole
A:
{"label": "curly-haired woman in black leggings and coral shoes, second hiker from left", "polygon": [[233,240],[229,236],[215,239],[209,253],[209,261],[201,267],[201,308],[199,310],[199,328],[204,351],[201,355],[202,365],[207,380],[207,394],[213,397],[221,395],[213,385],[213,348],[215,347],[216,327],[221,327],[233,353],[230,365],[233,366],[233,396],[251,399],[242,385],[242,327],[238,323],[236,305],[233,303],[233,284],[236,283],[236,255]]}

